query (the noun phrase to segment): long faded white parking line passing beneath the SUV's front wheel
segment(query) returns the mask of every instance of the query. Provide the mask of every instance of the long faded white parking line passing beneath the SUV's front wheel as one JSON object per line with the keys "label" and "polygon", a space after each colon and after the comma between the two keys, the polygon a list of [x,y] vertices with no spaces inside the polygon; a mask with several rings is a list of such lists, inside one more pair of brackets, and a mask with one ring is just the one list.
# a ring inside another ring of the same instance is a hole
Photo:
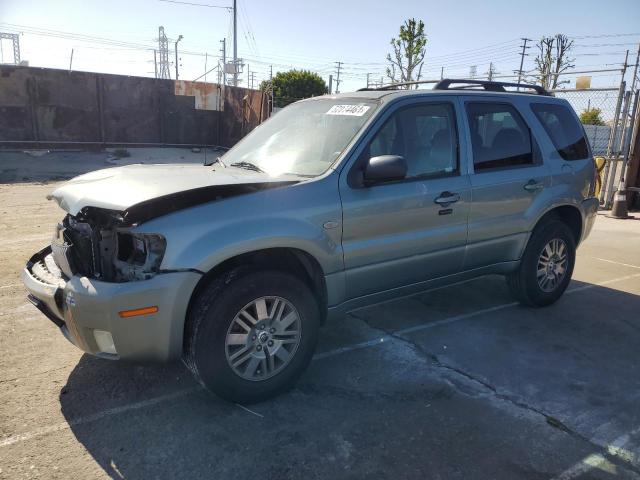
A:
{"label": "long faded white parking line passing beneath the SUV's front wheel", "polygon": [[[624,277],[618,277],[618,278],[614,278],[611,280],[606,280],[604,282],[600,282],[600,283],[593,283],[593,284],[589,284],[589,285],[583,285],[581,287],[576,287],[573,288],[571,290],[567,290],[567,294],[571,294],[571,293],[575,293],[575,292],[581,292],[584,290],[588,290],[591,288],[595,288],[595,287],[600,287],[600,286],[604,286],[604,285],[609,285],[611,283],[616,283],[616,282],[622,282],[624,280],[629,280],[631,278],[637,278],[640,277],[640,273],[636,273],[634,275],[625,275]],[[434,328],[437,326],[441,326],[441,325],[447,325],[453,322],[458,322],[461,320],[466,320],[469,318],[473,318],[473,317],[477,317],[479,315],[485,314],[485,313],[491,313],[491,312],[495,312],[498,310],[503,310],[509,307],[513,307],[517,305],[516,302],[510,302],[510,303],[504,303],[501,305],[496,305],[493,307],[489,307],[489,308],[484,308],[482,310],[477,310],[475,312],[469,312],[466,314],[462,314],[462,315],[456,315],[453,317],[449,317],[449,318],[444,318],[442,320],[438,320],[436,322],[433,323],[428,323],[428,324],[424,324],[424,325],[416,325],[414,327],[409,327],[409,328],[405,328],[403,330],[399,330],[398,332],[396,332],[396,334],[403,334],[403,333],[412,333],[412,332],[417,332],[420,330],[427,330],[429,328]],[[348,345],[345,347],[341,347],[341,348],[337,348],[335,350],[329,350],[327,352],[322,352],[322,353],[318,353],[316,355],[314,355],[313,360],[321,360],[323,358],[327,358],[327,357],[333,357],[336,355],[340,355],[342,353],[346,353],[346,352],[351,352],[354,350],[360,350],[363,348],[368,348],[368,347],[374,347],[376,345],[382,345],[385,342],[388,342],[390,340],[392,340],[393,337],[391,335],[384,335],[382,337],[376,338],[374,340],[369,340],[366,342],[361,342],[361,343],[356,343],[353,345]],[[159,403],[163,403],[165,401],[170,401],[170,400],[174,400],[176,398],[180,398],[182,396],[194,393],[198,390],[201,390],[202,387],[194,387],[194,388],[187,388],[184,390],[178,390],[177,392],[173,392],[173,393],[169,393],[166,395],[160,395],[158,397],[154,397],[154,398],[150,398],[148,400],[143,400],[141,402],[136,402],[136,403],[131,403],[129,405],[123,405],[120,407],[115,407],[115,408],[110,408],[108,410],[104,410],[102,412],[93,414],[93,415],[88,415],[86,417],[79,417],[76,419],[72,419],[69,420],[68,422],[61,422],[55,425],[50,425],[48,427],[42,427],[42,428],[38,428],[36,430],[33,430],[31,432],[26,432],[26,433],[20,433],[17,435],[12,435],[10,437],[5,438],[4,440],[0,440],[0,448],[2,447],[7,447],[10,445],[14,445],[16,443],[20,443],[20,442],[24,442],[26,440],[30,440],[32,438],[35,437],[39,437],[41,435],[46,435],[48,433],[53,433],[53,432],[58,432],[61,430],[66,430],[69,429],[71,427],[77,426],[77,425],[84,425],[87,423],[91,423],[91,422],[95,422],[97,420],[101,420],[103,418],[106,417],[110,417],[113,415],[118,415],[121,413],[126,413],[126,412],[130,412],[132,410],[139,410],[141,408],[145,408],[145,407],[150,407],[153,405],[157,405]],[[249,411],[250,413],[253,413],[254,415],[258,415],[260,416],[259,413],[250,411],[249,409],[247,409],[246,407],[243,407],[242,405],[238,405],[238,407]],[[630,434],[629,434],[630,435]],[[613,444],[612,444],[613,445]],[[571,477],[568,477],[571,478]]]}

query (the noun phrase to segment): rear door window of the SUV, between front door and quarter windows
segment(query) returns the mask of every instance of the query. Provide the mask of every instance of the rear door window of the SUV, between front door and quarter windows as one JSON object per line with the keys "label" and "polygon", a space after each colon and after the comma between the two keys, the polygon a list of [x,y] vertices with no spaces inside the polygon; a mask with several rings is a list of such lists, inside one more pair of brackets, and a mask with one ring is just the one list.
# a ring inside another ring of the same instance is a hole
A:
{"label": "rear door window of the SUV, between front door and quarter windows", "polygon": [[516,109],[504,103],[467,103],[476,172],[534,163],[531,133]]}

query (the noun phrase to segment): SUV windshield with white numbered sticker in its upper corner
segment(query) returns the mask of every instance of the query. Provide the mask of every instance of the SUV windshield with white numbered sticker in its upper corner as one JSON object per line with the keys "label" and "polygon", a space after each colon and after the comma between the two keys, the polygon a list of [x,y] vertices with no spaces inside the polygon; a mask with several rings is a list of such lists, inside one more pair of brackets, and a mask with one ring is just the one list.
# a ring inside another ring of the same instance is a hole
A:
{"label": "SUV windshield with white numbered sticker in its upper corner", "polygon": [[[223,157],[225,165],[272,176],[316,176],[338,158],[377,104],[360,99],[309,100],[289,105]],[[257,167],[257,168],[256,168]]]}

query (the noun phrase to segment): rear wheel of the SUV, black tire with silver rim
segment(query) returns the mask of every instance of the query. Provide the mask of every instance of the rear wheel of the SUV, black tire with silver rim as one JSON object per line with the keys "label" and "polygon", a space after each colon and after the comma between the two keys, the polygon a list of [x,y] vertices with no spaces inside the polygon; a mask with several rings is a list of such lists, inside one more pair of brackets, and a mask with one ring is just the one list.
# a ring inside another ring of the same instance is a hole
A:
{"label": "rear wheel of the SUV, black tire with silver rim", "polygon": [[[549,255],[555,250],[566,254],[564,267],[561,255]],[[547,257],[555,260],[545,263]],[[520,266],[507,276],[507,283],[520,303],[531,307],[551,305],[569,285],[575,260],[576,243],[571,230],[562,221],[550,219],[534,229]],[[543,270],[547,273],[541,274]],[[560,270],[564,272],[562,275],[558,273]]]}

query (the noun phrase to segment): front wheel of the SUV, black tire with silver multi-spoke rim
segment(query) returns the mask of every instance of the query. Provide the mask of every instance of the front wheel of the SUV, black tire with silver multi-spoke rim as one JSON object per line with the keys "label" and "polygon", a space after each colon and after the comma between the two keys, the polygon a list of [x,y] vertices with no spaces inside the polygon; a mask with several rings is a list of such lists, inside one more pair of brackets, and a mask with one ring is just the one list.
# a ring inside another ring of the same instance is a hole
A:
{"label": "front wheel of the SUV, black tire with silver multi-spoke rim", "polygon": [[187,325],[185,363],[196,380],[225,400],[250,404],[295,385],[313,356],[320,312],[299,278],[240,268],[200,292]]}

